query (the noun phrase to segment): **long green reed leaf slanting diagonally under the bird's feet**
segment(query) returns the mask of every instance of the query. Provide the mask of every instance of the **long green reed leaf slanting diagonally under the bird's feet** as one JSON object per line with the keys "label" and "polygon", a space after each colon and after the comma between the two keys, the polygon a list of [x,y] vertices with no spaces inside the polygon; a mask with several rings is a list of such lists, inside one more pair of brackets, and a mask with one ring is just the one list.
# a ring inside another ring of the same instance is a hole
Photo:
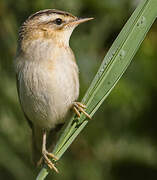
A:
{"label": "long green reed leaf slanting diagonally under the bird's feet", "polygon": [[[123,27],[82,99],[82,103],[87,105],[86,112],[91,117],[129,66],[156,17],[157,0],[143,0]],[[80,118],[73,116],[70,119],[53,151],[58,159],[61,158],[87,123],[88,120],[83,114]],[[48,169],[44,166],[37,180],[42,180],[47,175]]]}

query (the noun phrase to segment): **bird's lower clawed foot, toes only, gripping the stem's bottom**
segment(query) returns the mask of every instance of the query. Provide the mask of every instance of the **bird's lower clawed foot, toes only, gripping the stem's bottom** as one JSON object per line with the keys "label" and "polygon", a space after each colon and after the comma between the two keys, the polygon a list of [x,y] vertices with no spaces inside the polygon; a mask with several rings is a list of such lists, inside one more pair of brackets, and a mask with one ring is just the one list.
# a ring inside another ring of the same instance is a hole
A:
{"label": "bird's lower clawed foot, toes only, gripping the stem's bottom", "polygon": [[55,167],[55,165],[52,163],[52,161],[50,160],[50,158],[52,158],[53,160],[57,161],[58,158],[52,154],[52,153],[49,153],[47,150],[43,150],[42,151],[42,155],[43,155],[43,159],[45,161],[45,163],[47,164],[47,166],[50,168],[50,169],[53,169],[55,170],[57,173],[59,173],[58,169]]}

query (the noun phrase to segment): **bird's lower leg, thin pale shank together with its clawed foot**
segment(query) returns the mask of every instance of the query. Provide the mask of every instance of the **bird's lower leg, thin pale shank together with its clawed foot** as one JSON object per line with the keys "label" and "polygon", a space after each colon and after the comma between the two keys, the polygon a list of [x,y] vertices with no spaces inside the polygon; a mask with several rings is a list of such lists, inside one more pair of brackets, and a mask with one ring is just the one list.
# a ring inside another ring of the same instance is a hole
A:
{"label": "bird's lower leg, thin pale shank together with its clawed foot", "polygon": [[59,173],[58,169],[55,167],[55,165],[49,159],[49,158],[52,158],[54,160],[58,160],[58,158],[56,158],[54,154],[49,153],[46,150],[46,131],[45,130],[43,131],[42,155],[43,155],[43,159],[44,159],[45,163],[48,165],[48,167],[50,169],[54,169],[57,173]]}

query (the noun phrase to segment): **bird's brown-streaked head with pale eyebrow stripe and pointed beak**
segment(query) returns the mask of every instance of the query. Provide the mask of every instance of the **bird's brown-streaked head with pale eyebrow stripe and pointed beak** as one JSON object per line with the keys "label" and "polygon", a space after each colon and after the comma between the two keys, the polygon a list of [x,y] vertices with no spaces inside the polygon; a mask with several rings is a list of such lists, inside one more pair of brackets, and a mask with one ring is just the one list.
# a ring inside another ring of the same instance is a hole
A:
{"label": "bird's brown-streaked head with pale eyebrow stripe and pointed beak", "polygon": [[93,18],[78,18],[55,9],[46,9],[28,17],[19,31],[19,44],[36,39],[51,39],[54,43],[69,44],[74,28]]}

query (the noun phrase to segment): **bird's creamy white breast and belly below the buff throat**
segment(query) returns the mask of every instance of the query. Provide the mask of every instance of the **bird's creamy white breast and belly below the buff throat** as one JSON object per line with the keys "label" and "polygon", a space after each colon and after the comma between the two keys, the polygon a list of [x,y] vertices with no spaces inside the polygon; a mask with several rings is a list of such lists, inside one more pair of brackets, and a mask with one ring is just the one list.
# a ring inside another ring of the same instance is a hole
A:
{"label": "bird's creamy white breast and belly below the buff throat", "polygon": [[25,63],[17,67],[23,110],[42,128],[63,122],[79,95],[78,68],[70,48],[50,52],[40,56],[40,62],[20,59]]}

